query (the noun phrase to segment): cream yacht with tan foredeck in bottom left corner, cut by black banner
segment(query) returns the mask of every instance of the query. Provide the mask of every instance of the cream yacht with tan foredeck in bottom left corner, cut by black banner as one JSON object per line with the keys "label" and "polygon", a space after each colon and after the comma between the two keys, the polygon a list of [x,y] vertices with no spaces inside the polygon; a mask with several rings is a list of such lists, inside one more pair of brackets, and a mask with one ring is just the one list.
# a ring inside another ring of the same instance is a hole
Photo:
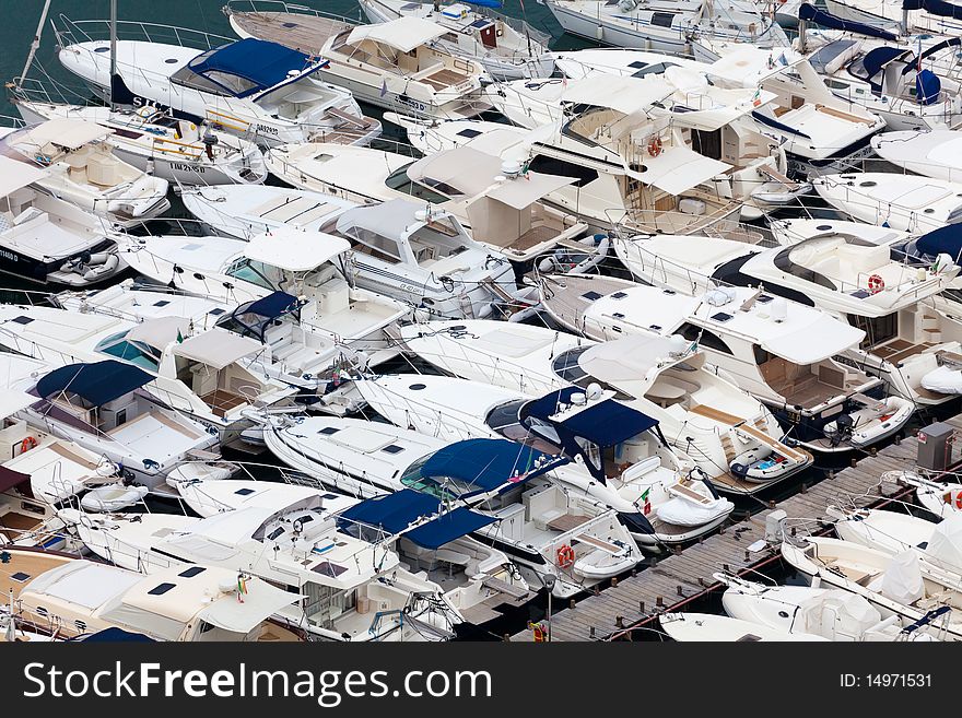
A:
{"label": "cream yacht with tan foredeck in bottom left corner, cut by black banner", "polygon": [[17,622],[56,639],[120,628],[152,640],[301,640],[270,621],[297,597],[235,566],[143,576],[62,553],[4,548],[3,555],[0,590],[15,601]]}

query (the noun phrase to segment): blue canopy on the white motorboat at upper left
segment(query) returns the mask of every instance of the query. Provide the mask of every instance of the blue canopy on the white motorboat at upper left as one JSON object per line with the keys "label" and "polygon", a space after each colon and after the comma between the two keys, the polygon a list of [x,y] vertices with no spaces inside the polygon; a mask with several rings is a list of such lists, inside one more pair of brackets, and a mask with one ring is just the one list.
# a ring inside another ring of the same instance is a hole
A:
{"label": "blue canopy on the white motorboat at upper left", "polygon": [[248,37],[204,52],[191,60],[188,67],[197,74],[207,75],[209,72],[223,72],[254,83],[255,87],[236,92],[236,87],[228,87],[216,78],[209,78],[219,85],[235,92],[237,97],[247,97],[280,84],[289,78],[291,72],[303,72],[308,66],[310,66],[310,58],[304,52],[298,52],[278,43]]}

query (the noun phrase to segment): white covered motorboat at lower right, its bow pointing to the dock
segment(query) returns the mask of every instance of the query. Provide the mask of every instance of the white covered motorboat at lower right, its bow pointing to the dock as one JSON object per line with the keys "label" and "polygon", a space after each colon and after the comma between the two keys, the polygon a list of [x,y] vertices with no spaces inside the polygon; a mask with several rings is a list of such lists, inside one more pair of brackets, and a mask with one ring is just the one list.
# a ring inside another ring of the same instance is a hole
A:
{"label": "white covered motorboat at lower right, its bow pointing to the dock", "polygon": [[[901,615],[882,617],[865,597],[838,588],[769,586],[727,574],[714,578],[728,588],[722,595],[725,612],[769,629],[816,635],[829,640],[941,640],[936,621],[916,622]],[[937,616],[931,616],[936,619]]]}

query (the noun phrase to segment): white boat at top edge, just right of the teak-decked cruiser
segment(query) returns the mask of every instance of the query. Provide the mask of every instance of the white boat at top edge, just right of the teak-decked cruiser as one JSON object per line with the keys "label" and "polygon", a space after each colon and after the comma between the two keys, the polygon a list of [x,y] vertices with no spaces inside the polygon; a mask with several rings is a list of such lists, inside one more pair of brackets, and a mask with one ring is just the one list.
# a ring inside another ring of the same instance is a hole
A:
{"label": "white boat at top edge, just right of the teak-decked cruiser", "polygon": [[[495,80],[548,78],[554,58],[548,51],[551,35],[528,23],[489,9],[486,3],[408,2],[408,0],[360,0],[361,10],[372,23],[398,17],[423,17],[447,32],[437,43],[451,55],[480,62]],[[501,7],[495,2],[494,7]]]}

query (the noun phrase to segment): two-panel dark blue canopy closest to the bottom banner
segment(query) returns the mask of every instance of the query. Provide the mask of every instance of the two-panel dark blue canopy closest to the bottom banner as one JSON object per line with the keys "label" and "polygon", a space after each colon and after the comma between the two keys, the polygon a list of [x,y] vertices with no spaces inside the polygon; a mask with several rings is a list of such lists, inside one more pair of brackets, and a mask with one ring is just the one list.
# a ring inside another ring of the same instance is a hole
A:
{"label": "two-panel dark blue canopy closest to the bottom banner", "polygon": [[419,546],[430,550],[443,546],[496,520],[464,506],[451,511],[439,511],[441,502],[434,496],[404,489],[355,504],[342,511],[340,518],[342,521],[375,526],[386,533],[395,534],[406,531],[417,521],[434,516],[432,520],[404,533]]}

